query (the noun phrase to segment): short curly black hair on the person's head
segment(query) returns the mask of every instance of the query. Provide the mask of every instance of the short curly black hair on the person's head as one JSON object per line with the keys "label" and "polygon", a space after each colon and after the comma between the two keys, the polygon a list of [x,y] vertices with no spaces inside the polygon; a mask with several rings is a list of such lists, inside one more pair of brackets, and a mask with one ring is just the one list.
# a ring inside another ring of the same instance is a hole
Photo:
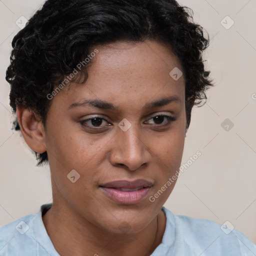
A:
{"label": "short curly black hair on the person's head", "polygon": [[[192,15],[175,0],[47,0],[12,40],[6,80],[13,113],[17,105],[25,105],[44,124],[47,94],[93,45],[149,39],[166,44],[182,64],[189,125],[192,106],[199,106],[213,85],[202,60],[209,38]],[[86,79],[86,68],[83,74]],[[20,129],[17,118],[13,127]],[[46,151],[35,156],[37,165],[48,160]]]}

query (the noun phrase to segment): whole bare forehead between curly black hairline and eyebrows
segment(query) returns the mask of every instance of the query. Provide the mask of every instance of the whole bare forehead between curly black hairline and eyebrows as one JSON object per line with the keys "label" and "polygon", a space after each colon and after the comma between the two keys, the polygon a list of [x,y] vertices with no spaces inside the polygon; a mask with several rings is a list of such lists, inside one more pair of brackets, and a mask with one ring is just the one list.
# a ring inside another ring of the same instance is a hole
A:
{"label": "whole bare forehead between curly black hairline and eyebrows", "polygon": [[[108,102],[144,104],[153,97],[184,97],[184,78],[174,80],[170,71],[182,70],[179,59],[165,45],[155,41],[125,42],[94,46],[98,53],[91,58],[84,84],[72,83],[62,97],[66,104],[81,98]],[[175,70],[175,69],[174,69]],[[55,99],[54,99],[55,100]]]}

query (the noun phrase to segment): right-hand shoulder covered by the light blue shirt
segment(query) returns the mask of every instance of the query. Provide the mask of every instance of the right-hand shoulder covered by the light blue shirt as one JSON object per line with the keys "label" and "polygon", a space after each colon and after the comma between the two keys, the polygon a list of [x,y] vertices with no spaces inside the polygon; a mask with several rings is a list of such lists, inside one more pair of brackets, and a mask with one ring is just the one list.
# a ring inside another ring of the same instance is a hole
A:
{"label": "right-hand shoulder covered by the light blue shirt", "polygon": [[164,212],[167,221],[173,221],[176,241],[183,243],[191,253],[194,250],[199,254],[204,251],[203,255],[256,255],[256,245],[226,222],[220,225],[208,219],[173,215],[166,208]]}

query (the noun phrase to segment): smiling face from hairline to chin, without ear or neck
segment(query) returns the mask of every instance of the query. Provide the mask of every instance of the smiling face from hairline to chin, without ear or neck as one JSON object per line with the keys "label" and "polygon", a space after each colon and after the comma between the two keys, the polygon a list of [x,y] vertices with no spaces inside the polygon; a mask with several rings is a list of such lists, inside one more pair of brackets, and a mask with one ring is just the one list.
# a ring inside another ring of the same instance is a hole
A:
{"label": "smiling face from hairline to chin, without ear or neck", "polygon": [[128,223],[135,233],[175,184],[169,178],[183,152],[185,91],[183,76],[169,72],[182,68],[154,41],[95,48],[86,82],[51,99],[45,143],[53,203],[111,232]]}

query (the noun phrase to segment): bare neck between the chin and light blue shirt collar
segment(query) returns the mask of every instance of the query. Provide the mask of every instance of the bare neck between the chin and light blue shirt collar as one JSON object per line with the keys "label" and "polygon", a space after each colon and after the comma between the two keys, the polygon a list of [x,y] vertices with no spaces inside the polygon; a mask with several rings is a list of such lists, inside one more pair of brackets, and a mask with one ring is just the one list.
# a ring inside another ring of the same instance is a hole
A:
{"label": "bare neck between the chin and light blue shirt collar", "polygon": [[57,205],[62,204],[53,202],[52,207],[42,216],[42,220],[56,251],[61,256],[148,256],[161,242],[165,229],[165,215],[161,210],[144,229],[127,234],[109,232],[78,213],[68,210],[67,207]]}

